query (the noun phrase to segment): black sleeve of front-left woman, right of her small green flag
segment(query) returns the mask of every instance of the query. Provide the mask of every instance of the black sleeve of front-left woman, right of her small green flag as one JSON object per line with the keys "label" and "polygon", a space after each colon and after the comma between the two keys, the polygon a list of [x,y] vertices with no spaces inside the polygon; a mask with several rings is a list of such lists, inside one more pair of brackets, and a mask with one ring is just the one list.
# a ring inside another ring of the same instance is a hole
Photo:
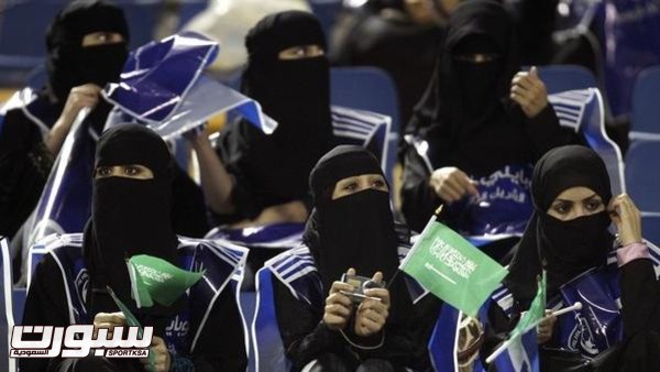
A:
{"label": "black sleeve of front-left woman, right of her small green flag", "polygon": [[245,335],[232,291],[222,291],[193,353],[195,372],[245,372]]}

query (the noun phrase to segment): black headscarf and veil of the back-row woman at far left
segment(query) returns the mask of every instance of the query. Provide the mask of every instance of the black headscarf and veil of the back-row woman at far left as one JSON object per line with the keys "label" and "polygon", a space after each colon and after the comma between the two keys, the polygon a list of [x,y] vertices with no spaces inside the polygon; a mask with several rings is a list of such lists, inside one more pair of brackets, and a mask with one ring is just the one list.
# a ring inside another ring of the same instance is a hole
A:
{"label": "black headscarf and veil of the back-row woman at far left", "polygon": [[[92,32],[117,32],[125,42],[82,47]],[[48,84],[59,101],[73,87],[117,81],[128,57],[129,28],[123,11],[107,0],[77,0],[56,17],[46,35]]]}

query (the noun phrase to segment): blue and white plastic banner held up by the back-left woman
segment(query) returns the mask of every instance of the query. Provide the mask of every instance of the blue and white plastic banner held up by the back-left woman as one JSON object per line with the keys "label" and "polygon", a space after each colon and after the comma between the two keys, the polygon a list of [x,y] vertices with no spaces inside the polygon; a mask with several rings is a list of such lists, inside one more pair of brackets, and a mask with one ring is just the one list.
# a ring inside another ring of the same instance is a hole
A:
{"label": "blue and white plastic banner held up by the back-left woman", "polygon": [[106,99],[120,110],[110,114],[107,125],[127,121],[128,114],[168,140],[212,116],[233,111],[273,133],[277,122],[262,112],[257,101],[204,76],[219,51],[218,43],[184,32],[132,52],[120,83],[103,89]]}

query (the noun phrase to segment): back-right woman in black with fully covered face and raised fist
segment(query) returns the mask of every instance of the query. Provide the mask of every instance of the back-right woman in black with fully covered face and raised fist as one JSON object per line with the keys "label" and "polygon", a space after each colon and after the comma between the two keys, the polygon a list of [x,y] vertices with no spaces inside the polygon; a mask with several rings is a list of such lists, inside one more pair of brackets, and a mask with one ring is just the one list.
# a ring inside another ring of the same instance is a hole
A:
{"label": "back-right woman in black with fully covered face and raised fist", "polygon": [[[402,210],[413,229],[421,231],[440,204],[448,204],[447,222],[461,229],[462,207],[451,204],[476,196],[474,179],[579,141],[559,125],[536,69],[516,74],[516,45],[515,24],[498,2],[465,1],[452,12],[433,77],[402,142]],[[426,146],[414,145],[422,141]]]}

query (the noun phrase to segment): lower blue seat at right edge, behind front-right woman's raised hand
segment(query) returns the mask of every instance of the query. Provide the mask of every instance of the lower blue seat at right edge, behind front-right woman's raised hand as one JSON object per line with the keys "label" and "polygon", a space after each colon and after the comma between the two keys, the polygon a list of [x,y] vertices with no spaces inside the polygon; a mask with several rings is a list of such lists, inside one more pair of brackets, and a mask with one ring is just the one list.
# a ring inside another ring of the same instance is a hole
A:
{"label": "lower blue seat at right edge, behind front-right woman's raised hand", "polygon": [[642,212],[660,212],[660,142],[641,141],[626,154],[628,194]]}

